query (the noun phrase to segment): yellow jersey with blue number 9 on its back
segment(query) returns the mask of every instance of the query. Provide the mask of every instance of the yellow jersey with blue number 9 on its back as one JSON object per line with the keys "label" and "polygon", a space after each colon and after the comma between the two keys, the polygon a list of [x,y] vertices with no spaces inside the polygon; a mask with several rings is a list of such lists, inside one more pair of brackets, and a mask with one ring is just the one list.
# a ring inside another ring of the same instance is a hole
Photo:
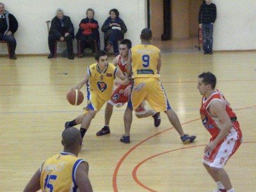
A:
{"label": "yellow jersey with blue number 9 on its back", "polygon": [[151,44],[140,44],[132,47],[133,78],[159,78],[157,64],[161,51]]}

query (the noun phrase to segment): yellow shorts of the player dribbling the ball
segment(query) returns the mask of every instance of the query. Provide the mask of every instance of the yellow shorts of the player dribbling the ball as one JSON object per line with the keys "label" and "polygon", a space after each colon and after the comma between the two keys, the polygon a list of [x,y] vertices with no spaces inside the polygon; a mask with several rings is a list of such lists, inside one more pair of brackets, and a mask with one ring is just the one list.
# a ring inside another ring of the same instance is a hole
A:
{"label": "yellow shorts of the player dribbling the ball", "polygon": [[100,111],[102,106],[108,100],[101,99],[95,92],[90,91],[87,95],[87,106],[84,109],[84,114],[88,113],[89,110]]}

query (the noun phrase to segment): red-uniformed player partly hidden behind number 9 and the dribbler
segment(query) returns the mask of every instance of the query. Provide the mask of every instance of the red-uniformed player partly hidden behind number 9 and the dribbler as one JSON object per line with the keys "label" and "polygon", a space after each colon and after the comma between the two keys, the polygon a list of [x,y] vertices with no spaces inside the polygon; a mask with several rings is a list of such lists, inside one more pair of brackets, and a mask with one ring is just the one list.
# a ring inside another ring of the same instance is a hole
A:
{"label": "red-uniformed player partly hidden behind number 9 and the dribbler", "polygon": [[[126,63],[127,60],[131,57],[131,49],[132,43],[129,39],[124,39],[120,43],[119,52],[120,54],[116,56],[113,60],[113,65],[118,66],[120,70],[127,76],[127,68]],[[106,109],[105,109],[105,125],[104,127],[96,133],[97,136],[102,136],[104,134],[109,134],[109,122],[111,115],[113,113],[113,106],[120,108],[124,106],[124,104],[129,100],[129,95],[131,94],[131,86],[132,83],[128,85],[118,85],[116,86],[111,99],[107,102]],[[135,114],[138,118],[144,118],[147,116],[153,116],[154,124],[156,127],[160,125],[161,119],[159,113],[156,113],[153,110],[145,109],[145,101],[143,101],[140,106],[134,110]]]}

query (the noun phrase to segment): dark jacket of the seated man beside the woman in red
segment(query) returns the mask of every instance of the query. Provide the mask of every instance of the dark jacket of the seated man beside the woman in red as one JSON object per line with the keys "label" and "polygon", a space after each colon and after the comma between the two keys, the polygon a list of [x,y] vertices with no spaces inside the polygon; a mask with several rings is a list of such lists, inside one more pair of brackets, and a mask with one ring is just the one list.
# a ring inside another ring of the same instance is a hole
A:
{"label": "dark jacket of the seated man beside the woman in red", "polygon": [[61,38],[65,33],[69,33],[74,38],[74,26],[70,20],[70,17],[64,15],[63,26],[61,27],[61,20],[58,17],[54,17],[51,22],[51,28],[49,31],[49,35],[54,35],[57,38]]}

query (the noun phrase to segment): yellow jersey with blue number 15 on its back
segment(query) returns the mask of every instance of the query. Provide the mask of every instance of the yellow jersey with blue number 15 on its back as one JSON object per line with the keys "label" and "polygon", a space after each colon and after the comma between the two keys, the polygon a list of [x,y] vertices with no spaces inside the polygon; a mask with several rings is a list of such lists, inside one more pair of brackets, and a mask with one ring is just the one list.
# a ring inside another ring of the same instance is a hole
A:
{"label": "yellow jersey with blue number 15 on its back", "polygon": [[47,159],[40,168],[40,184],[47,191],[76,191],[76,170],[83,159],[62,152]]}

